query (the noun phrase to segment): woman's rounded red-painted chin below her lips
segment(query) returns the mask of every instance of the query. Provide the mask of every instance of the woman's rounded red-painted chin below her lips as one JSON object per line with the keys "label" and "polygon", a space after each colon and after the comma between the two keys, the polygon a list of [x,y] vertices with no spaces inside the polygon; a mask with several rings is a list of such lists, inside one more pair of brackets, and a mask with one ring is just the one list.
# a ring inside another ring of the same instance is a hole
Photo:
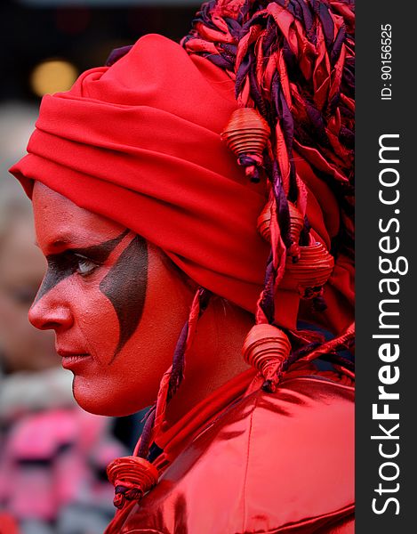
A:
{"label": "woman's rounded red-painted chin below her lips", "polygon": [[80,384],[76,376],[72,391],[77,404],[96,416],[130,416],[146,408],[151,402],[137,399],[126,392],[120,392],[115,387],[92,387],[92,384]]}

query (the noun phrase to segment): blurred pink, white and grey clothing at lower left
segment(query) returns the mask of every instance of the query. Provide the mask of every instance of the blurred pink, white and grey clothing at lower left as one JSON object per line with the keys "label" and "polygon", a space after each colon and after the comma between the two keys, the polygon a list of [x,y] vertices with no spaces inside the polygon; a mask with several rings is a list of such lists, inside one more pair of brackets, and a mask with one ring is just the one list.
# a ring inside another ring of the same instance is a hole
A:
{"label": "blurred pink, white and grey clothing at lower left", "polygon": [[22,532],[101,534],[114,513],[106,466],[124,450],[110,419],[78,408],[62,373],[12,375],[14,388],[2,378],[0,511]]}

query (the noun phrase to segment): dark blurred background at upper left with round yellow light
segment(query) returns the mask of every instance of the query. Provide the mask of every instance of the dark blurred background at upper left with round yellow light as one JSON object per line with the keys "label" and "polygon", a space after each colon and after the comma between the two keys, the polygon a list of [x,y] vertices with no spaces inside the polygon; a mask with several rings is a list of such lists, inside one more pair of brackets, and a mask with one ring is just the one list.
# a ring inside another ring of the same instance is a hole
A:
{"label": "dark blurred background at upper left with round yellow light", "polygon": [[[179,40],[199,3],[190,0],[2,0],[0,100],[36,103],[109,51],[145,33]],[[61,87],[60,87],[61,89]]]}

